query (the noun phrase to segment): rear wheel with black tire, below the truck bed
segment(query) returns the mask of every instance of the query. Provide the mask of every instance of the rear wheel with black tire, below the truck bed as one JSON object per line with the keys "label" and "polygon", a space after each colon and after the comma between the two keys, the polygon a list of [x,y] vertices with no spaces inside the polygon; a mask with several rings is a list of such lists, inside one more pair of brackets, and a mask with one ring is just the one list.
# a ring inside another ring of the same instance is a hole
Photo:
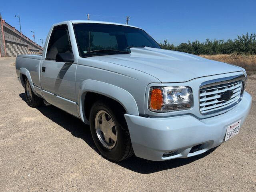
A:
{"label": "rear wheel with black tire, below the truck bed", "polygon": [[25,95],[26,95],[26,102],[28,106],[38,107],[42,105],[43,99],[36,96],[36,94],[34,94],[30,86],[30,83],[28,82],[27,79],[25,80]]}

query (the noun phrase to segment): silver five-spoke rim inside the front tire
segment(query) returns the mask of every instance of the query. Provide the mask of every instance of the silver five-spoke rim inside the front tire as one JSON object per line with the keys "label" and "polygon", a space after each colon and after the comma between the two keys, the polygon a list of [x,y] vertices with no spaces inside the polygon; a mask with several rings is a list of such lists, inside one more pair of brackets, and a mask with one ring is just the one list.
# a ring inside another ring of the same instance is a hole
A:
{"label": "silver five-spoke rim inside the front tire", "polygon": [[108,149],[114,148],[117,140],[116,125],[106,111],[100,110],[96,114],[95,129],[101,144]]}

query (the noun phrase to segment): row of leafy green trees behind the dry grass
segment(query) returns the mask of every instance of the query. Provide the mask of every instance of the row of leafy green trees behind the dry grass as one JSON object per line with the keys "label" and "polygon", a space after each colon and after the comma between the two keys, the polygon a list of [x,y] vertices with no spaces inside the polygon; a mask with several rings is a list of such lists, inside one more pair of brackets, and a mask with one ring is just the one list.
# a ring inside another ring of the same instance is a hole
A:
{"label": "row of leafy green trees behind the dry grass", "polygon": [[162,49],[175,50],[180,52],[186,52],[190,54],[204,54],[204,55],[216,55],[216,54],[256,54],[256,34],[246,34],[237,36],[234,40],[209,40],[205,42],[188,41],[188,43],[181,43],[178,46],[170,44],[167,40],[164,43],[160,43]]}

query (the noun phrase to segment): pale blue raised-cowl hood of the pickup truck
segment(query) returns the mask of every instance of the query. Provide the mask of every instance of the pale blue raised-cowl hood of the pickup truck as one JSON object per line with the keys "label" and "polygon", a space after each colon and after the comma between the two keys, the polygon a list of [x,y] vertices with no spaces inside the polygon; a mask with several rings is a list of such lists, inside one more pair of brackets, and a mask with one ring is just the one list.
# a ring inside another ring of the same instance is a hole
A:
{"label": "pale blue raised-cowl hood of the pickup truck", "polygon": [[130,48],[130,54],[95,56],[91,59],[126,66],[154,76],[163,83],[242,71],[242,68],[183,52],[157,48]]}

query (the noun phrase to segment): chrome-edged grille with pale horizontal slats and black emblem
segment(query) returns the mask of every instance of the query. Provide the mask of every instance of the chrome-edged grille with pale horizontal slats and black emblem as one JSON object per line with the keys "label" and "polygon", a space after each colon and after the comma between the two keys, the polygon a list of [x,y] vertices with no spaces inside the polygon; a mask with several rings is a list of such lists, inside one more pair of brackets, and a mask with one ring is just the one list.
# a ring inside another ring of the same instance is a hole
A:
{"label": "chrome-edged grille with pale horizontal slats and black emblem", "polygon": [[[234,106],[240,101],[243,89],[243,80],[240,78],[236,81],[216,82],[209,85],[204,85],[200,88],[199,107],[201,114],[209,114],[225,110]],[[224,92],[231,90],[233,95],[227,99],[221,99]]]}

